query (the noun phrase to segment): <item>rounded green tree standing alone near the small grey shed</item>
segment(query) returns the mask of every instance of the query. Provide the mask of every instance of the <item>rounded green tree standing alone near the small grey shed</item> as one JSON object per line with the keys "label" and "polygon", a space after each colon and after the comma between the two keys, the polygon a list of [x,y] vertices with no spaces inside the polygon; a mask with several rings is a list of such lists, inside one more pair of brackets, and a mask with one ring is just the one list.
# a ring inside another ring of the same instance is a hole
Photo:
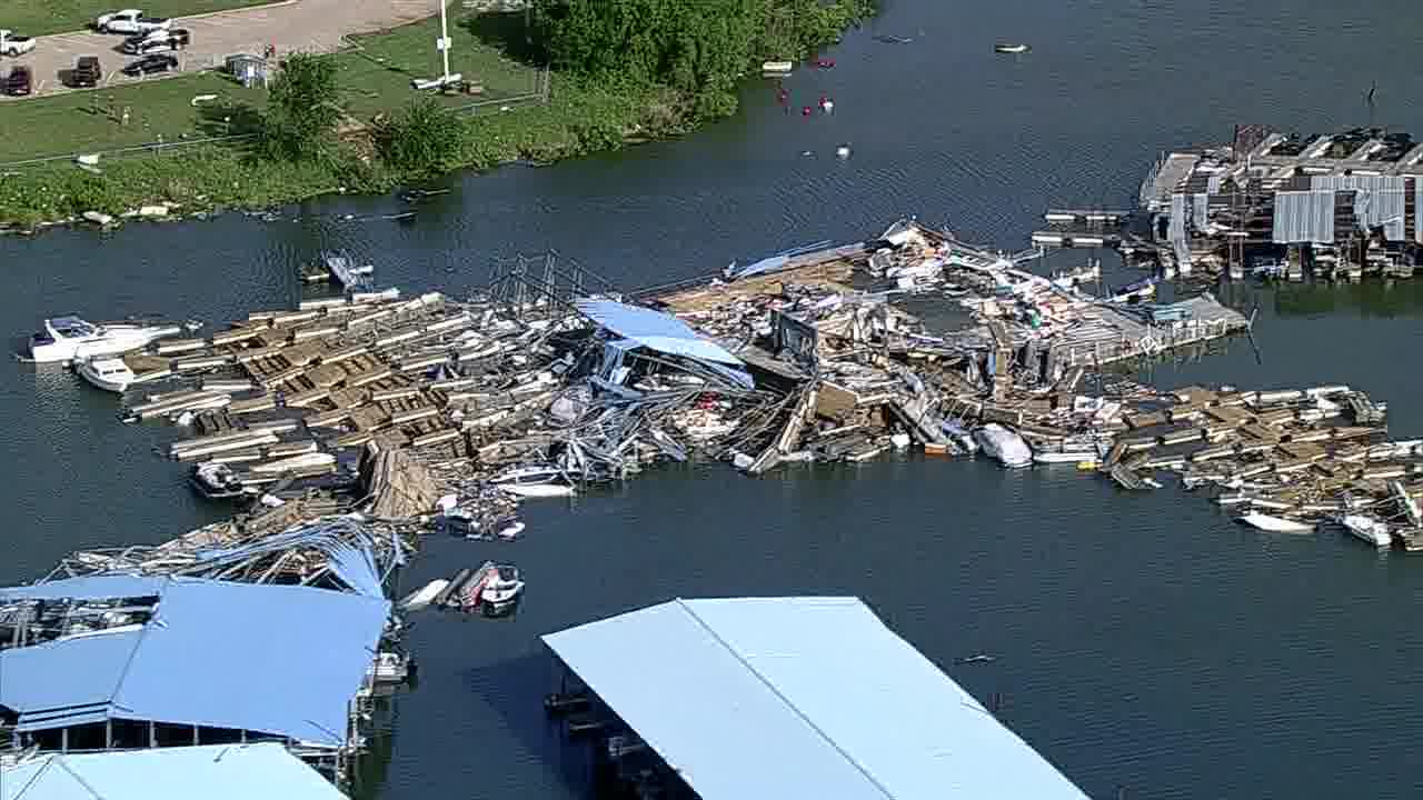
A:
{"label": "rounded green tree standing alone near the small grey shed", "polygon": [[306,53],[289,57],[262,114],[262,152],[289,161],[329,157],[330,134],[346,114],[337,93],[330,58]]}

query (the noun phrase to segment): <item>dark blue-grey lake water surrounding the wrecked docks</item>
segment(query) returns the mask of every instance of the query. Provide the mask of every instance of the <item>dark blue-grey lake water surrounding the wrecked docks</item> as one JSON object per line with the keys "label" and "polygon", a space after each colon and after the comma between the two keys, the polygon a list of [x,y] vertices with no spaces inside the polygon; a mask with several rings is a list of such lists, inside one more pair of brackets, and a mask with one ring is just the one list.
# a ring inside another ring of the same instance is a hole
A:
{"label": "dark blue-grey lake water surrounding the wrecked docks", "polygon": [[[0,319],[14,335],[64,310],[218,322],[293,302],[296,266],[327,246],[376,262],[383,283],[451,292],[519,251],[555,248],[635,288],[859,239],[905,214],[1016,251],[1047,206],[1127,206],[1161,149],[1228,140],[1237,122],[1423,132],[1407,100],[1423,94],[1412,28],[1423,11],[1402,0],[884,3],[828,54],[834,70],[787,81],[794,112],[770,84],[750,84],[737,118],[682,141],[453,177],[408,225],[369,219],[403,208],[391,198],[330,198],[273,222],[0,239]],[[995,41],[1033,51],[993,56]],[[800,117],[822,94],[835,114]],[[840,144],[852,158],[834,158]],[[1419,283],[1222,296],[1259,306],[1259,357],[1237,340],[1143,377],[1348,383],[1389,401],[1396,434],[1423,434]],[[174,431],[114,413],[111,396],[63,370],[0,370],[11,463],[0,497],[14,520],[0,581],[218,518],[152,454]],[[554,673],[538,635],[739,594],[865,598],[969,690],[1000,692],[1005,722],[1094,797],[1118,786],[1133,799],[1423,790],[1423,633],[1403,614],[1423,561],[1402,554],[1244,530],[1171,485],[1123,494],[1072,467],[919,458],[761,480],[665,468],[572,507],[525,508],[524,541],[431,541],[410,571],[414,584],[511,558],[531,589],[512,621],[416,619],[420,685],[394,703],[363,797],[583,797],[582,757],[544,722]],[[978,652],[999,658],[953,666]]]}

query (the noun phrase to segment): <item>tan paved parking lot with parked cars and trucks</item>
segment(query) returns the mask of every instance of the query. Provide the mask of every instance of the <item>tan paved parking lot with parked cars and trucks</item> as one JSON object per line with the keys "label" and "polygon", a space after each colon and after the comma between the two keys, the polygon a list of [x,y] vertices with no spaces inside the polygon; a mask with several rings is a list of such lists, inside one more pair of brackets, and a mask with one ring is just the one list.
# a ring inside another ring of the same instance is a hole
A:
{"label": "tan paved parking lot with parked cars and trucks", "polygon": [[[437,11],[430,0],[290,0],[255,9],[219,11],[199,17],[179,17],[174,28],[186,28],[191,44],[175,53],[181,71],[222,65],[236,53],[262,54],[275,47],[277,56],[312,51],[329,53],[342,47],[350,34],[373,33],[417,20]],[[24,33],[24,31],[16,31]],[[64,33],[36,38],[36,47],[18,58],[0,58],[0,71],[27,65],[33,73],[34,94],[44,97],[71,91],[64,78],[80,56],[97,56],[104,73],[100,87],[149,78],[129,78],[121,70],[137,57],[120,53],[124,36],[92,31]],[[431,43],[431,47],[434,43]],[[0,95],[3,97],[3,95]],[[4,97],[9,101],[24,98]]]}

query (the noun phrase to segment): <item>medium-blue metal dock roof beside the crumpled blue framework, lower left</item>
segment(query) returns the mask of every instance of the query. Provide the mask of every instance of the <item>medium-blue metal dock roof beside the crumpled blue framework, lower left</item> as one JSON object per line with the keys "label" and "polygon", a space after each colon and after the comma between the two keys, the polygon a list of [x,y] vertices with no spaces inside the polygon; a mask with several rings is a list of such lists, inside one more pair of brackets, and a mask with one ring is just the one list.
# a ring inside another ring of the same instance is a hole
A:
{"label": "medium-blue metal dock roof beside the crumpled blue framework, lower left", "polygon": [[347,702],[370,666],[388,602],[181,578],[162,581],[158,595],[141,631],[0,651],[0,706],[18,712],[17,729],[108,716],[344,742]]}

